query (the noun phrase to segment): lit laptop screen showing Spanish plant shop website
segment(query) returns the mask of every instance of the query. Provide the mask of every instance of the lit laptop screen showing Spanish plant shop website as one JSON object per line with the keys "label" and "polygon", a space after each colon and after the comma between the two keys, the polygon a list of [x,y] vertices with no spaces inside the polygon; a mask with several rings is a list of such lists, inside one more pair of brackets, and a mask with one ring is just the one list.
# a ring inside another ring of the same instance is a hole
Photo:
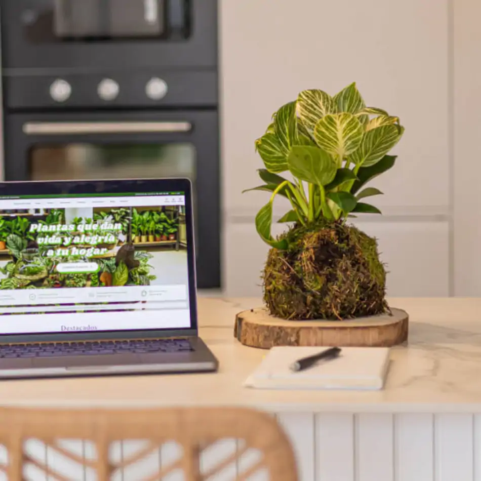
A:
{"label": "lit laptop screen showing Spanish plant shop website", "polygon": [[182,191],[2,196],[0,334],[190,328],[185,214]]}

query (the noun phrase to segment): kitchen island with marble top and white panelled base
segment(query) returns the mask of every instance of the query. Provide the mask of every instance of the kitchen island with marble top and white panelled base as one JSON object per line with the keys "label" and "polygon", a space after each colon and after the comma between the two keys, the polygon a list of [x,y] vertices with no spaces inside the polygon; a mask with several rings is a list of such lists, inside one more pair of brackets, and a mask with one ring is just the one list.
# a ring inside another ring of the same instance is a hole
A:
{"label": "kitchen island with marble top and white panelled base", "polygon": [[[265,351],[234,339],[234,318],[260,301],[201,298],[200,334],[219,358],[216,374],[4,381],[0,398],[17,407],[250,406],[285,427],[301,481],[481,480],[481,299],[389,303],[410,314],[409,343],[392,349],[381,391],[244,388]],[[78,443],[71,449],[85,454]],[[219,452],[235,447],[226,440]],[[30,449],[44,455],[40,444]]]}

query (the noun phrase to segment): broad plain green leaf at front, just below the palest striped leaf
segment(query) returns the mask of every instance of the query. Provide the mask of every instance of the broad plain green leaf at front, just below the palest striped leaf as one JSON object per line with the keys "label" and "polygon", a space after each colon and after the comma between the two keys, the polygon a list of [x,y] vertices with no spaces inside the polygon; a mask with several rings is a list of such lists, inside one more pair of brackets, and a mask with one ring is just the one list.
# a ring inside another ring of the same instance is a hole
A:
{"label": "broad plain green leaf at front, just below the palest striped leaf", "polygon": [[312,184],[324,186],[332,182],[336,176],[336,162],[329,153],[318,147],[294,146],[289,154],[288,163],[292,175]]}

